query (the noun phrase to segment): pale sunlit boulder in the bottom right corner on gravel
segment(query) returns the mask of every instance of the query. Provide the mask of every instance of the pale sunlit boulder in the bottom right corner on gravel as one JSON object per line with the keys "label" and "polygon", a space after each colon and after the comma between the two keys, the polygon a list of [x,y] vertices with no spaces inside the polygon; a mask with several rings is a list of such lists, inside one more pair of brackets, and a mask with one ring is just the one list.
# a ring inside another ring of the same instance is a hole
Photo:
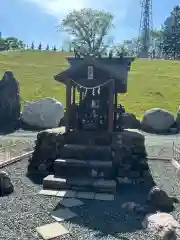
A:
{"label": "pale sunlit boulder in the bottom right corner on gravel", "polygon": [[180,239],[180,224],[169,213],[147,214],[142,221],[142,227],[157,237],[156,239]]}

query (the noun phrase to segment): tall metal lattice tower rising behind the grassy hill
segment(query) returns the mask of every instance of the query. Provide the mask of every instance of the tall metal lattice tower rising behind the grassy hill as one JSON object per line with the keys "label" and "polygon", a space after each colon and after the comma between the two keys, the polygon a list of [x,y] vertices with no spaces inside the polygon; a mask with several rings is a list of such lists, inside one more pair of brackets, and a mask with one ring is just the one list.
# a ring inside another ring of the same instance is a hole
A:
{"label": "tall metal lattice tower rising behind the grassy hill", "polygon": [[138,57],[148,58],[152,46],[152,0],[141,0],[141,20],[139,28]]}

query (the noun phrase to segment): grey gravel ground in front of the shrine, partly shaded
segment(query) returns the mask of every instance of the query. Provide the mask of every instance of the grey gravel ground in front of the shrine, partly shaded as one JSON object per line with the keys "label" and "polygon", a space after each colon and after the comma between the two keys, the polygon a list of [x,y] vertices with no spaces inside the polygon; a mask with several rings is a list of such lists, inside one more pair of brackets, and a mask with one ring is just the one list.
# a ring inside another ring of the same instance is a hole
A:
{"label": "grey gravel ground in front of the shrine, partly shaded", "polygon": [[[172,166],[162,161],[151,161],[150,167],[158,185],[180,199],[180,186]],[[54,222],[48,210],[57,207],[59,199],[38,196],[41,185],[25,177],[26,168],[27,160],[4,168],[11,176],[15,192],[0,198],[0,239],[38,240],[41,238],[36,227]],[[84,201],[83,206],[72,208],[79,217],[63,223],[70,234],[54,240],[152,239],[141,230],[141,219],[137,215],[129,215],[121,209],[121,204],[126,201],[143,204],[148,190],[148,186],[122,187],[113,202]],[[173,214],[180,221],[180,206],[176,206]]]}

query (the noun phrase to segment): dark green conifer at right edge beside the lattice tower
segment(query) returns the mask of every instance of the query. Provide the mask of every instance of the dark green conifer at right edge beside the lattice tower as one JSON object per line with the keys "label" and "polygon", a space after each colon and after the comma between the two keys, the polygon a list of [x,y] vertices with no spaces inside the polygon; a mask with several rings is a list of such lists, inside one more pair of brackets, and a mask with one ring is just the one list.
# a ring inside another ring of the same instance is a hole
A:
{"label": "dark green conifer at right edge beside the lattice tower", "polygon": [[180,57],[180,6],[175,6],[171,16],[164,22],[162,52],[171,58]]}

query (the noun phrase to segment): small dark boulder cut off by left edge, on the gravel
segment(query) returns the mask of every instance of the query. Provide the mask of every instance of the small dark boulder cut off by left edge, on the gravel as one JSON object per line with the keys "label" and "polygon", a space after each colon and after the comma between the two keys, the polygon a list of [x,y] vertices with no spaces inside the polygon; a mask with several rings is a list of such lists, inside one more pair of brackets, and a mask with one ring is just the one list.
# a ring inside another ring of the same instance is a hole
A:
{"label": "small dark boulder cut off by left edge, on the gravel", "polygon": [[14,191],[11,179],[4,171],[0,171],[0,196],[10,194]]}

